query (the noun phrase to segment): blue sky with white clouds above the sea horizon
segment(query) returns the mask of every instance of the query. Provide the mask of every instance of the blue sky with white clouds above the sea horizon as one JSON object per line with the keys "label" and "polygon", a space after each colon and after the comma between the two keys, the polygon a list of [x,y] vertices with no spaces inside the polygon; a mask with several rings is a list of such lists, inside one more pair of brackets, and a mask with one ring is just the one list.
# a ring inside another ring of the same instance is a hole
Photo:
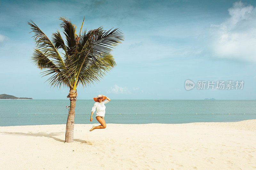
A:
{"label": "blue sky with white clouds above the sea horizon", "polygon": [[[83,29],[120,28],[117,66],[78,99],[256,99],[256,1],[0,1],[0,94],[66,99],[29,61],[29,19],[51,37],[60,16]],[[185,81],[244,81],[243,89],[187,91]]]}

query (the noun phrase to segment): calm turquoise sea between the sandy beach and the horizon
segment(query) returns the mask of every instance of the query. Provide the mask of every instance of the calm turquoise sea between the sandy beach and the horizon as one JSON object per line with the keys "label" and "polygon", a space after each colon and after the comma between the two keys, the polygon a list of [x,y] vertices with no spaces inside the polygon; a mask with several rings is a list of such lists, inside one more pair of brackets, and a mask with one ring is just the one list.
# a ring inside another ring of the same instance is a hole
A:
{"label": "calm turquoise sea between the sandy beach and the horizon", "polygon": [[[0,126],[66,124],[69,100],[0,100]],[[99,123],[93,100],[76,101],[75,124]],[[256,100],[111,100],[106,123],[237,122],[256,119]],[[137,114],[137,115],[136,115]]]}

